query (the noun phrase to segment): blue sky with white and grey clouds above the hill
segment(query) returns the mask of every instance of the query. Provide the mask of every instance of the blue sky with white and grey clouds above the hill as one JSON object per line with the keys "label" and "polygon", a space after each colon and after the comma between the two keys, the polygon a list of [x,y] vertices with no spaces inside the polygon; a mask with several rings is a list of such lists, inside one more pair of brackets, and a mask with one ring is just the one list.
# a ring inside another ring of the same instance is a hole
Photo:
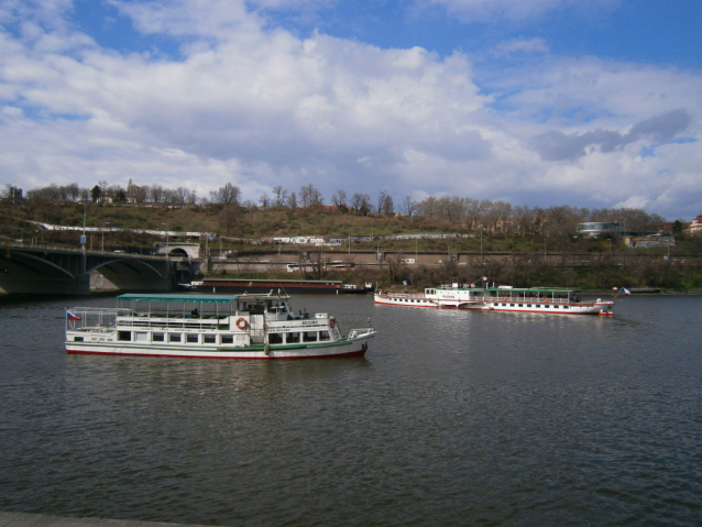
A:
{"label": "blue sky with white and grey clouds above the hill", "polygon": [[0,183],[702,215],[699,0],[0,0]]}

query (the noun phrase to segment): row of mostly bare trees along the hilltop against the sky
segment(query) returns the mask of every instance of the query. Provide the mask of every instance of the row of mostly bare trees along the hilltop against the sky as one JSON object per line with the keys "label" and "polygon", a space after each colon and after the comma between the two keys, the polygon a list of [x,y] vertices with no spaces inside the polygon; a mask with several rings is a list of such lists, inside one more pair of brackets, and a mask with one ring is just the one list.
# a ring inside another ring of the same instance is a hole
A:
{"label": "row of mostly bare trees along the hilltop against the sky", "polygon": [[[17,188],[6,185],[4,198],[14,198]],[[135,186],[131,179],[127,188],[99,182],[91,188],[81,188],[77,183],[57,186],[48,185],[31,189],[25,199],[52,204],[83,202],[133,204],[135,206],[207,206],[221,209],[221,221],[230,224],[242,211],[254,211],[271,207],[309,209],[323,207],[325,198],[315,185],[303,185],[298,191],[275,186],[271,194],[263,193],[257,202],[243,200],[240,187],[227,183],[209,193],[209,197],[198,197],[197,191],[177,187],[165,188],[158,184]],[[402,213],[405,217],[424,217],[445,220],[453,228],[468,232],[519,234],[523,237],[558,237],[575,231],[575,226],[585,221],[618,222],[624,230],[656,232],[666,219],[641,209],[588,209],[568,205],[551,207],[514,206],[504,200],[475,199],[470,197],[428,197],[421,201],[410,195],[398,205],[387,189],[379,191],[376,199],[369,194],[350,194],[343,189],[334,191],[327,208],[339,213],[368,216]],[[677,222],[679,223],[679,221]]]}

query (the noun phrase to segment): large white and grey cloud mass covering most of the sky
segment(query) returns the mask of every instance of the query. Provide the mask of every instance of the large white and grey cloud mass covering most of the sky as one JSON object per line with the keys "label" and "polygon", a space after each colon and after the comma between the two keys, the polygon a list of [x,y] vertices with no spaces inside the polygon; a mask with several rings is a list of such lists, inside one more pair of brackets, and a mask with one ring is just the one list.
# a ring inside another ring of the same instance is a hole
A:
{"label": "large white and grey cloud mass covering most of the sky", "polygon": [[[142,31],[187,36],[183,57],[118,54],[69,23],[0,33],[6,183],[131,177],[208,196],[231,182],[257,200],[311,182],[327,198],[388,188],[397,202],[449,194],[701,212],[688,199],[702,195],[696,73],[545,54],[479,86],[467,54],[299,39],[241,2],[119,7]],[[681,133],[690,142],[670,141]]]}

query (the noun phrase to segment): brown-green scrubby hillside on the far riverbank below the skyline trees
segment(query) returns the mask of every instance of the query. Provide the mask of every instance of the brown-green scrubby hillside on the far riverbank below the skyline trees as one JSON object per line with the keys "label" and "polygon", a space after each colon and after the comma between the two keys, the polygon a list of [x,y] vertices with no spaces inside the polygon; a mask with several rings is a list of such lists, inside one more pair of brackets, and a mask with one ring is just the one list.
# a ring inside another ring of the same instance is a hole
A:
{"label": "brown-green scrubby hillside on the far riverbank below the skyline trees", "polygon": [[[638,209],[590,211],[568,206],[507,209],[504,204],[491,201],[483,201],[476,209],[475,200],[468,198],[429,198],[415,204],[412,216],[372,210],[361,212],[347,206],[321,205],[261,207],[210,202],[135,206],[6,198],[0,199],[0,238],[4,243],[33,239],[36,243],[76,246],[75,232],[45,231],[28,220],[74,227],[81,227],[85,221],[86,227],[107,230],[106,250],[149,253],[154,243],[165,241],[163,237],[139,233],[138,230],[199,231],[211,233],[210,249],[235,250],[242,257],[271,250],[272,244],[262,244],[261,240],[273,237],[362,235],[373,240],[354,241],[351,250],[380,251],[386,257],[385,265],[382,268],[348,271],[345,274],[337,272],[334,277],[386,285],[406,281],[416,287],[456,277],[473,282],[484,274],[490,275],[491,281],[515,286],[702,287],[702,267],[696,265],[702,262],[702,240],[700,237],[687,239],[681,222],[677,222],[674,246],[630,249],[616,234],[599,239],[580,237],[577,224],[590,220],[618,221],[626,226],[627,231],[652,233],[662,227],[662,218]],[[111,229],[116,228],[125,231],[112,232]],[[384,234],[439,232],[470,234],[471,238],[375,240]],[[97,246],[98,242],[95,243]],[[287,251],[290,260],[299,257],[298,246],[277,249]],[[463,256],[457,262],[447,257],[442,264],[431,266],[401,263],[401,260],[417,252]],[[476,257],[479,254],[484,256],[482,262]],[[581,262],[588,264],[580,265]]]}

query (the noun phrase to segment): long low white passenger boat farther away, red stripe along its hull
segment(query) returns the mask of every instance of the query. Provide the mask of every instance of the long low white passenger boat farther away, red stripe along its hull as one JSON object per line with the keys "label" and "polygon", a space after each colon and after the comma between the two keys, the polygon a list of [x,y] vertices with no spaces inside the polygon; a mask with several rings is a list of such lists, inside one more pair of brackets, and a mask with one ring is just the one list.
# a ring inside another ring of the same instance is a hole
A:
{"label": "long low white passenger boat farther away, red stripe along its hull", "polygon": [[472,287],[448,284],[424,293],[379,290],[375,304],[443,309],[542,312],[549,315],[612,315],[613,300],[582,300],[578,289]]}

